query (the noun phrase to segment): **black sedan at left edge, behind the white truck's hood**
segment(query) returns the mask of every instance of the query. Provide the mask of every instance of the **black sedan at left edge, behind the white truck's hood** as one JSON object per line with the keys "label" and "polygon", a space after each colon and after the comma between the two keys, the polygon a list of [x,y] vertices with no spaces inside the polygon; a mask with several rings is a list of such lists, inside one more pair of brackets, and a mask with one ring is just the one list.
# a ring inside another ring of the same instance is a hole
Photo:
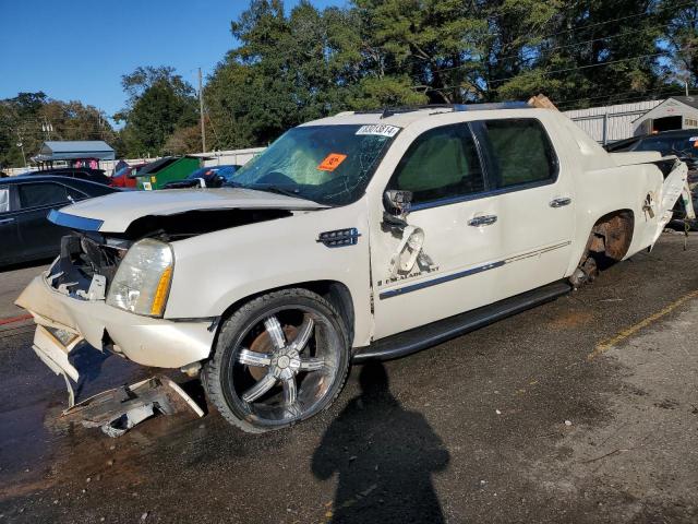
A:
{"label": "black sedan at left edge, behind the white truck's hood", "polygon": [[0,265],[57,255],[68,229],[50,223],[49,211],[115,191],[119,190],[62,176],[0,179]]}

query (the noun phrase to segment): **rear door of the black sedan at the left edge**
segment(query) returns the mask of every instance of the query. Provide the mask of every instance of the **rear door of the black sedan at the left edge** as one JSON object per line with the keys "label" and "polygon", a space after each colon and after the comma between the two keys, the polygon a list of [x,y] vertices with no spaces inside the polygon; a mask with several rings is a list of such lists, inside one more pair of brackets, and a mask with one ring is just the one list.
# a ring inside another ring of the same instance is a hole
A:
{"label": "rear door of the black sedan at the left edge", "polygon": [[17,225],[22,249],[27,258],[52,257],[60,251],[61,237],[67,229],[49,222],[50,210],[74,201],[71,190],[57,182],[20,183]]}

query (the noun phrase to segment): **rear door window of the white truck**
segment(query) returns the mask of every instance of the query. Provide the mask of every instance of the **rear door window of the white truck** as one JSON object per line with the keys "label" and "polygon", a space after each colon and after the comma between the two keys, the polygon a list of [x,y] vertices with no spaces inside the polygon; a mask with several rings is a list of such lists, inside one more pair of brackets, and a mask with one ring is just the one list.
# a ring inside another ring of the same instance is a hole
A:
{"label": "rear door window of the white truck", "polygon": [[496,166],[496,187],[553,180],[557,158],[545,129],[534,119],[484,122]]}

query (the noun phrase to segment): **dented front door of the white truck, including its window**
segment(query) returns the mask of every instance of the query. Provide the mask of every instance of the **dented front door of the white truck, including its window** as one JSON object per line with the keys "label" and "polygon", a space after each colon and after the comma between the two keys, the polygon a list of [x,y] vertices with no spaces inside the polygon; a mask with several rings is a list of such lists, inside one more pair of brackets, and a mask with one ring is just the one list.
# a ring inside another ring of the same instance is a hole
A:
{"label": "dented front door of the white truck, including its window", "polygon": [[386,189],[411,191],[412,205],[404,231],[372,228],[374,338],[493,301],[504,247],[470,126],[419,135]]}

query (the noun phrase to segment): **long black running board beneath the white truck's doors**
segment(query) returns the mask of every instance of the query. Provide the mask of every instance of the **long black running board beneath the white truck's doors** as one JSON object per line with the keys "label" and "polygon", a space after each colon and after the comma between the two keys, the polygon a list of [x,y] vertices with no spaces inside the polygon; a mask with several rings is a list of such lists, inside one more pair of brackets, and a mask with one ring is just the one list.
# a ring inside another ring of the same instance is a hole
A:
{"label": "long black running board beneath the white truck's doors", "polygon": [[554,282],[490,306],[414,327],[410,331],[382,338],[370,346],[359,348],[359,352],[353,356],[352,362],[362,364],[368,360],[390,360],[405,357],[470,331],[484,327],[497,320],[520,313],[533,306],[554,300],[570,290],[571,286],[567,281]]}

